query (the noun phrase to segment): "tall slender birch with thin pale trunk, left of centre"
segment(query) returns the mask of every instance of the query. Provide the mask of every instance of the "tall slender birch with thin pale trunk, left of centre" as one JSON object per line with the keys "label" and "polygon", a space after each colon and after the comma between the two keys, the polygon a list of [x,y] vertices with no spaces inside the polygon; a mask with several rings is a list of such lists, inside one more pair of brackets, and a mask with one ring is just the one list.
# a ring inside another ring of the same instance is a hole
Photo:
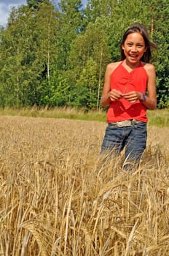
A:
{"label": "tall slender birch with thin pale trunk, left of centre", "polygon": [[36,31],[38,31],[36,41],[36,61],[42,66],[41,73],[41,99],[39,104],[46,105],[47,97],[52,96],[51,78],[55,72],[55,63],[58,58],[58,48],[56,46],[56,31],[58,20],[52,4],[42,3],[36,15]]}

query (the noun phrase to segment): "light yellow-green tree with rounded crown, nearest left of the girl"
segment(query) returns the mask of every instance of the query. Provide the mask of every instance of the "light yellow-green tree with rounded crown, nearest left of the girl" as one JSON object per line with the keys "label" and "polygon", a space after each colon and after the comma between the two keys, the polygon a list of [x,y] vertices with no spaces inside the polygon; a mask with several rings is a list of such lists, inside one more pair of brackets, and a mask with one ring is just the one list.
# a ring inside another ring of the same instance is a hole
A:
{"label": "light yellow-green tree with rounded crown, nearest left of the girl", "polygon": [[[79,86],[85,89],[88,100],[86,108],[99,108],[106,64],[110,61],[109,47],[101,18],[90,23],[84,34],[76,37],[71,45],[68,77],[78,99]],[[90,67],[91,65],[91,67]],[[82,98],[82,97],[81,97]],[[93,101],[93,103],[92,103]]]}

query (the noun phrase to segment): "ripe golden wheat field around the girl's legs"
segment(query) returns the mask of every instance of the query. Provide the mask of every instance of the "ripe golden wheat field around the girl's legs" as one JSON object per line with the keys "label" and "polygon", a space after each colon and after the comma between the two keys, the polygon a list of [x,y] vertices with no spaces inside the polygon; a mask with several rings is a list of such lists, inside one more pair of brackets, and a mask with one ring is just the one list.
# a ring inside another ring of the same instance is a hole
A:
{"label": "ripe golden wheat field around the girl's legs", "polygon": [[105,128],[0,116],[0,255],[169,255],[169,128],[130,172],[101,159]]}

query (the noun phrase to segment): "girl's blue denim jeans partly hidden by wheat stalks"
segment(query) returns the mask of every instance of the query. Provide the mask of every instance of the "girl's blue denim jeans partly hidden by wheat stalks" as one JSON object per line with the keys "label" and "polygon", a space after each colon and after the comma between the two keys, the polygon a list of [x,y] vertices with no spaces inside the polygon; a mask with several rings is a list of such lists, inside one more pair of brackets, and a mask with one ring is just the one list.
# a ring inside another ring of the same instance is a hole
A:
{"label": "girl's blue denim jeans partly hidden by wheat stalks", "polygon": [[101,146],[101,153],[112,151],[116,154],[125,148],[125,162],[139,163],[146,148],[147,130],[145,122],[138,122],[130,127],[117,127],[108,124]]}

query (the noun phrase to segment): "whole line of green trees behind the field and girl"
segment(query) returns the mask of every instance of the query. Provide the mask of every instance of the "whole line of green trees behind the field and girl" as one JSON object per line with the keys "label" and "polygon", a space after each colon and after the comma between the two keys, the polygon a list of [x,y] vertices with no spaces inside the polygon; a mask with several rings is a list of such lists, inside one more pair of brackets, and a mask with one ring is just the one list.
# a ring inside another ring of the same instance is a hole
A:
{"label": "whole line of green trees behind the field and girl", "polygon": [[158,108],[169,105],[168,0],[28,0],[0,29],[0,106],[99,109],[106,65],[132,23],[158,45]]}

